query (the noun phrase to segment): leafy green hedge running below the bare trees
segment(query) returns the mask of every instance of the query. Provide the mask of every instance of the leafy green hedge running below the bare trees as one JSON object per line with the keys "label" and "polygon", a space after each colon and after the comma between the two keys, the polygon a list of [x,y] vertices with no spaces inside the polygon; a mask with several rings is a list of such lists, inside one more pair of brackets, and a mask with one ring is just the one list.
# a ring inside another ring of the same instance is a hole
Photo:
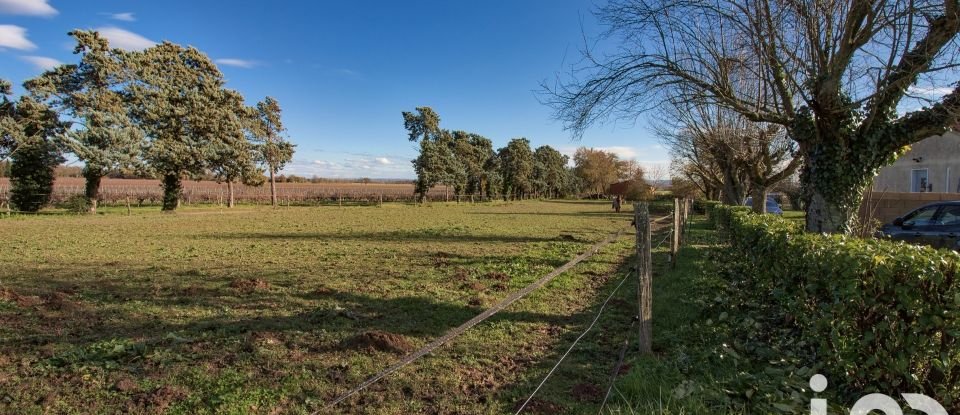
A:
{"label": "leafy green hedge running below the bare trees", "polygon": [[790,333],[830,389],[923,393],[960,413],[960,255],[903,243],[804,233],[747,208],[710,206],[729,237],[731,281]]}

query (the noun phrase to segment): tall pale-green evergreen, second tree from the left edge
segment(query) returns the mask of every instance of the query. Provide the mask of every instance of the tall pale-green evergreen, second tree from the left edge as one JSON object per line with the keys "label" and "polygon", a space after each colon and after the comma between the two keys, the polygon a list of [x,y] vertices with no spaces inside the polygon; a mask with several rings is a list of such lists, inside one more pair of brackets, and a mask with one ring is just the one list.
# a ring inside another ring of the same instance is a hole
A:
{"label": "tall pale-green evergreen, second tree from the left edge", "polygon": [[46,71],[25,87],[79,127],[57,140],[84,163],[84,195],[90,213],[95,213],[101,179],[112,171],[139,166],[144,135],[131,122],[122,93],[130,79],[125,52],[111,49],[95,31],[69,34],[77,42],[74,54],[80,62]]}

